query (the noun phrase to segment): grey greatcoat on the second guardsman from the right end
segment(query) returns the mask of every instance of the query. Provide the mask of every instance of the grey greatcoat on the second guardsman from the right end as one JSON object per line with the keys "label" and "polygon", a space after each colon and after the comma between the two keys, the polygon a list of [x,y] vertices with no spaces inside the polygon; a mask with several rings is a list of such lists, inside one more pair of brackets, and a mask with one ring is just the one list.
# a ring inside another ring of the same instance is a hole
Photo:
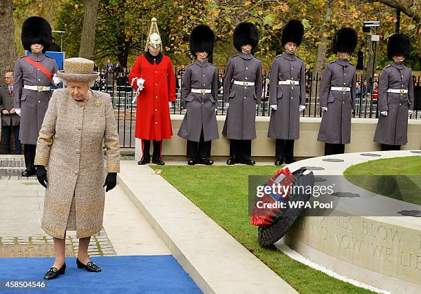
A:
{"label": "grey greatcoat on the second guardsman from the right end", "polygon": [[[356,69],[338,59],[326,65],[321,79],[320,106],[323,112],[317,141],[331,144],[351,142],[352,109],[355,108]],[[347,87],[351,91],[335,91],[330,87]]]}

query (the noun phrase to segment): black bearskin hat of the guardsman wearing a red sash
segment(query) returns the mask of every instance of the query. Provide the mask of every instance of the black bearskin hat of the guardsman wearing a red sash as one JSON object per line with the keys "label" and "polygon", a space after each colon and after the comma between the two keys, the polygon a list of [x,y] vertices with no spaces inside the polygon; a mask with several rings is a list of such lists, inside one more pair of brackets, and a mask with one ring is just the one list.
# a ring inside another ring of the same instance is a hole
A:
{"label": "black bearskin hat of the guardsman wearing a red sash", "polygon": [[31,16],[23,22],[21,41],[25,50],[31,51],[32,44],[42,44],[43,53],[51,45],[51,25],[40,16]]}

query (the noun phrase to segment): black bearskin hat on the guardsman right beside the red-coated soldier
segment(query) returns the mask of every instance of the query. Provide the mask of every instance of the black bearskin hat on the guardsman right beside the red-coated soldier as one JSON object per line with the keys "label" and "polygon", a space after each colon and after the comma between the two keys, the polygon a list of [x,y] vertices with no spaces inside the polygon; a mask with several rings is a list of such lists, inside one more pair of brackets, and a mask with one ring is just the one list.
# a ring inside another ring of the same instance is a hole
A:
{"label": "black bearskin hat on the guardsman right beside the red-coated soldier", "polygon": [[215,45],[215,34],[208,25],[197,25],[190,34],[190,51],[193,56],[195,52],[208,52],[212,54]]}

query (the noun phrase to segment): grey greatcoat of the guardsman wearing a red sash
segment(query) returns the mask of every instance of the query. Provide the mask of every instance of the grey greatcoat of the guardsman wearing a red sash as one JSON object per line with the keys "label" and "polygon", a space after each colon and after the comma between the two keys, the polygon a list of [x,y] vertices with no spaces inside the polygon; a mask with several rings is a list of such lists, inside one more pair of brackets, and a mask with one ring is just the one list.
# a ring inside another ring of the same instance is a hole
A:
{"label": "grey greatcoat of the guardsman wearing a red sash", "polygon": [[[26,60],[18,58],[14,66],[13,73],[13,91],[14,107],[21,109],[21,127],[19,138],[22,144],[36,144],[39,130],[43,124],[45,111],[48,108],[52,91],[34,91],[23,89],[23,85],[56,87],[54,82],[50,81],[42,71],[39,71]],[[58,70],[56,60],[45,56],[44,54],[30,54],[30,58],[38,61],[48,69],[53,75]]]}

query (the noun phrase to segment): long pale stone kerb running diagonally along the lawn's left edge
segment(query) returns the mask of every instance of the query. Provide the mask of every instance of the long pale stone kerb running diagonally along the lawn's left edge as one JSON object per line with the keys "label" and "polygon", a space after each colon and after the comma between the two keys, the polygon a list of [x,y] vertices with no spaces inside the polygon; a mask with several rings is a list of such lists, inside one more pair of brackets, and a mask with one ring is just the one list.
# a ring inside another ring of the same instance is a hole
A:
{"label": "long pale stone kerb running diagonally along the lawn's left edge", "polygon": [[122,161],[118,182],[204,293],[296,293],[149,166]]}

